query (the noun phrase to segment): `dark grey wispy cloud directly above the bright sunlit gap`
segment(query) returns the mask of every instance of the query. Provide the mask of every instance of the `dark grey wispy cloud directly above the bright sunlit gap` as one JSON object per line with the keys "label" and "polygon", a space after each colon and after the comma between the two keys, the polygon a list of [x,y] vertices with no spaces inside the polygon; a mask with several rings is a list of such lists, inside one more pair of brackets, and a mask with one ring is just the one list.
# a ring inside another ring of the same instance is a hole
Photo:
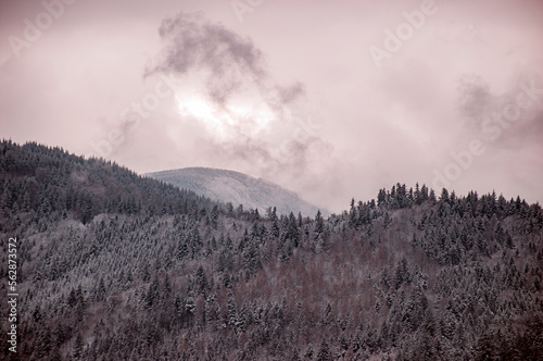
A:
{"label": "dark grey wispy cloud directly above the bright sunlit gap", "polygon": [[219,104],[243,83],[261,84],[268,77],[262,52],[251,39],[209,22],[200,13],[165,18],[159,34],[165,47],[157,63],[146,70],[146,76],[206,71],[207,96]]}

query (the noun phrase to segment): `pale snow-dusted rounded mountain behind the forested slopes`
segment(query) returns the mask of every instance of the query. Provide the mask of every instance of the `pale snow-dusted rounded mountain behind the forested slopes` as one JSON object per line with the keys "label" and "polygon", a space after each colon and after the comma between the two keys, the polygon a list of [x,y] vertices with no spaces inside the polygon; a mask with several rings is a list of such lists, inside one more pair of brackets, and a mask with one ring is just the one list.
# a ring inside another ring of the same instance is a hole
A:
{"label": "pale snow-dusted rounded mountain behind the forested slopes", "polygon": [[[192,190],[220,202],[243,204],[245,209],[258,209],[264,214],[269,207],[276,207],[279,214],[302,212],[315,215],[318,208],[304,201],[295,192],[274,183],[254,178],[243,173],[210,167],[186,167],[180,170],[148,173],[154,179]],[[323,211],[324,214],[328,212]]]}

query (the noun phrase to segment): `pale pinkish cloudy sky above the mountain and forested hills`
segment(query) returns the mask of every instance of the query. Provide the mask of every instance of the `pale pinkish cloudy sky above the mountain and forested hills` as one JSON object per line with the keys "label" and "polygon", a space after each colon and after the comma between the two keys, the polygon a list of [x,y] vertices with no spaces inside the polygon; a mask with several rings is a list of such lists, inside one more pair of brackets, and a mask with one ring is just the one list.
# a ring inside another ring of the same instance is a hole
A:
{"label": "pale pinkish cloudy sky above the mountain and forested hills", "polygon": [[0,136],[209,166],[332,212],[396,183],[543,200],[539,0],[0,2]]}

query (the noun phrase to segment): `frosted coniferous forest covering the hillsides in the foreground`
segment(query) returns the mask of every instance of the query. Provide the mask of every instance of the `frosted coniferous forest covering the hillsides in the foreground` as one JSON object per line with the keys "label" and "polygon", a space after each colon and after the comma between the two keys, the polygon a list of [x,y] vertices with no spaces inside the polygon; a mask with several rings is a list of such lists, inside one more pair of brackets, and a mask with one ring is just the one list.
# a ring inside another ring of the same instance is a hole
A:
{"label": "frosted coniferous forest covering the hillsides in the foreground", "polygon": [[3,140],[0,358],[543,360],[543,211],[498,191],[260,213]]}

